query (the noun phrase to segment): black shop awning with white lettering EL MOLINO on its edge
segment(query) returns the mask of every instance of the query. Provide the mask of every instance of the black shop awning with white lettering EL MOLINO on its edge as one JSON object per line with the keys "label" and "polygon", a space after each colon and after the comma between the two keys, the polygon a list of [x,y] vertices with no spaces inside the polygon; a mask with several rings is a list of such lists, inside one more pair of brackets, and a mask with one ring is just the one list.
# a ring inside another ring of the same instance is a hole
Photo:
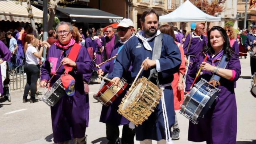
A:
{"label": "black shop awning with white lettering EL MOLINO on its edge", "polygon": [[121,16],[96,8],[58,7],[57,10],[69,16],[72,22],[116,23],[123,19]]}

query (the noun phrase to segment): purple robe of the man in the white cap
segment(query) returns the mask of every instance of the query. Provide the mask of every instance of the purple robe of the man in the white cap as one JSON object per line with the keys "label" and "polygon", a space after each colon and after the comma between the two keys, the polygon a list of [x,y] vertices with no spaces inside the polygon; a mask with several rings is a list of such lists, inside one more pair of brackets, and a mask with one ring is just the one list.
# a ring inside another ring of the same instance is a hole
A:
{"label": "purple robe of the man in the white cap", "polygon": [[[120,42],[118,42],[117,44],[115,44],[112,52],[111,52],[111,57],[115,56],[120,48],[120,46],[122,46],[123,44],[121,44]],[[111,73],[113,71],[114,68],[114,59],[106,62],[105,64],[102,64],[102,66],[100,66],[100,69],[102,69],[104,71],[104,73]],[[126,78],[125,78],[126,79]],[[128,88],[126,88],[127,90]],[[126,90],[124,92],[122,92],[122,94],[120,96],[118,96],[114,102],[112,102],[112,104],[110,104],[110,106],[102,106],[102,110],[101,110],[101,114],[100,114],[100,122],[103,123],[108,123],[108,124],[114,124],[114,125],[124,125],[124,124],[129,124],[129,120],[127,120],[126,118],[124,118],[122,115],[120,115],[117,110],[118,110],[118,106],[120,105],[122,98],[124,97],[124,95],[126,94]]]}

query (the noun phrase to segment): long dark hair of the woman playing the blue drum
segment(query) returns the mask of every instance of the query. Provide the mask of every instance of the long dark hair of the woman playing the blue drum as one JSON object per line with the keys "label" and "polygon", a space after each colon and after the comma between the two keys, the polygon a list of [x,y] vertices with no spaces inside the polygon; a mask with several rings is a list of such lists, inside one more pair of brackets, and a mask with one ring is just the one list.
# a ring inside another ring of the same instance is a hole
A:
{"label": "long dark hair of the woman playing the blue drum", "polygon": [[220,26],[213,26],[208,32],[207,32],[207,36],[208,36],[208,44],[207,46],[205,46],[203,48],[203,52],[206,54],[214,54],[214,50],[212,48],[212,45],[210,43],[210,33],[214,30],[218,30],[220,32],[220,35],[222,36],[223,40],[224,40],[224,44],[223,44],[223,50],[224,50],[224,54],[226,54],[226,60],[230,60],[230,58],[232,57],[232,55],[234,54],[234,51],[231,49],[230,47],[230,43],[229,43],[229,38],[228,35],[226,33],[226,31],[224,30],[224,28],[220,27]]}

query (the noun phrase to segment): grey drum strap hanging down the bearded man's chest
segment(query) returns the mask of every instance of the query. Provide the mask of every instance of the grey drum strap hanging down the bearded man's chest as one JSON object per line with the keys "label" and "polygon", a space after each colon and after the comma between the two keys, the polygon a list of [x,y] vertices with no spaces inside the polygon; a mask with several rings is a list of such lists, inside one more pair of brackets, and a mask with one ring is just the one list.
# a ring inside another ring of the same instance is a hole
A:
{"label": "grey drum strap hanging down the bearded man's chest", "polygon": [[[162,33],[155,37],[152,60],[158,60],[161,56],[162,37],[163,37]],[[159,81],[157,77],[158,77],[158,72],[156,71],[156,68],[153,68],[152,70],[150,70],[150,75],[148,77],[148,80],[150,80],[151,78],[156,78],[156,83],[159,88]]]}

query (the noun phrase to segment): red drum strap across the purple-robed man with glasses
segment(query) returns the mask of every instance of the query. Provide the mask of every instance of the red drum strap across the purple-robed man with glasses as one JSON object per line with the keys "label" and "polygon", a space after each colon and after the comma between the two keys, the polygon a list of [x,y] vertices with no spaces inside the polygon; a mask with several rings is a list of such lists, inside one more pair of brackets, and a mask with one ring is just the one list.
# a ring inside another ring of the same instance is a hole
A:
{"label": "red drum strap across the purple-robed man with glasses", "polygon": [[[81,48],[81,45],[78,44],[78,43],[75,43],[74,46],[72,46],[72,48],[69,52],[68,58],[75,62],[80,48]],[[73,69],[73,67],[70,67],[70,66],[64,66],[64,68],[65,68],[65,73],[66,74],[68,74],[68,72],[70,72]]]}

